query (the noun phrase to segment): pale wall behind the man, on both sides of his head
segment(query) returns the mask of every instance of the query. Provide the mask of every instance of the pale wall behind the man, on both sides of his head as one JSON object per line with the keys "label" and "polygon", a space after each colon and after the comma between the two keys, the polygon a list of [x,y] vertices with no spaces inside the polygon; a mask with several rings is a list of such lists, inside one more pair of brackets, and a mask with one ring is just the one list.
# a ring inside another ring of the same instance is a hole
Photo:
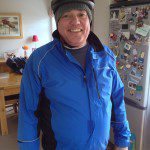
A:
{"label": "pale wall behind the man, on both sides of his head", "polygon": [[[109,3],[111,0],[95,0],[94,32],[104,44],[108,44]],[[48,10],[50,0],[0,0],[0,13],[21,13],[22,39],[0,39],[0,57],[6,51],[23,52],[22,46],[34,47],[32,36],[37,34],[37,47],[51,40]]]}

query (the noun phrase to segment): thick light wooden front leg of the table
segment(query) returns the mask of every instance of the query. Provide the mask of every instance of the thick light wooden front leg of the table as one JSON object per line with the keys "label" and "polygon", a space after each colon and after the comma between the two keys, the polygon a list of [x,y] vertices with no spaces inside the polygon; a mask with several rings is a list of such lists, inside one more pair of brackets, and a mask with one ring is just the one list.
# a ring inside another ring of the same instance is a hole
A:
{"label": "thick light wooden front leg of the table", "polygon": [[4,90],[0,90],[0,123],[2,135],[8,134]]}

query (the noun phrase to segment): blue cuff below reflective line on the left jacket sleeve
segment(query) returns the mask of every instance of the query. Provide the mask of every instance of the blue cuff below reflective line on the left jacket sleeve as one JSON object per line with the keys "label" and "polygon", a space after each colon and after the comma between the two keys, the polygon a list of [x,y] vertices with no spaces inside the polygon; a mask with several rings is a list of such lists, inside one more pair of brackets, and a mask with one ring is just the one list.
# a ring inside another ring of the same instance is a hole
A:
{"label": "blue cuff below reflective line on the left jacket sleeve", "polygon": [[19,150],[39,150],[40,140],[35,140],[32,142],[18,142]]}

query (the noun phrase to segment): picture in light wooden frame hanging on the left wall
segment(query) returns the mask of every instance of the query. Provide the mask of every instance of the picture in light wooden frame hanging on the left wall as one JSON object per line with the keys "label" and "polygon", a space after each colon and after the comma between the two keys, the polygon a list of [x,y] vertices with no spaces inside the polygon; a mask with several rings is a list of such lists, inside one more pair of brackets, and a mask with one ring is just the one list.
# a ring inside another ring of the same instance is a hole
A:
{"label": "picture in light wooden frame hanging on the left wall", "polygon": [[21,39],[22,17],[19,13],[0,13],[0,39]]}

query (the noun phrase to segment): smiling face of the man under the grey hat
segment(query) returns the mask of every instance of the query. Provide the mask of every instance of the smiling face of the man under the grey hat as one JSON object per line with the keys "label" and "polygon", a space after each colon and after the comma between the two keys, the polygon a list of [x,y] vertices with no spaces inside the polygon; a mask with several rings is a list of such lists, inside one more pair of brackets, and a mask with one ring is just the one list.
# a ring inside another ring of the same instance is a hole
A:
{"label": "smiling face of the man under the grey hat", "polygon": [[86,44],[90,22],[86,11],[71,10],[58,21],[58,32],[70,46],[80,48]]}

